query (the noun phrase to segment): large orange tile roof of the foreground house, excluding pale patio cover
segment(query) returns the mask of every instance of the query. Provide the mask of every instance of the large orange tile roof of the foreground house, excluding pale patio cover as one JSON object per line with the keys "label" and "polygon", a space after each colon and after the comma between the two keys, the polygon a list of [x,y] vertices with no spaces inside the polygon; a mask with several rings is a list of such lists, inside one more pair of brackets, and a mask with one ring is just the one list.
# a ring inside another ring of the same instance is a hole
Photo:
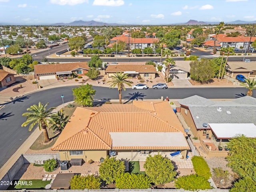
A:
{"label": "large orange tile roof of the foreground house, excluding pale patio cover", "polygon": [[[168,112],[167,112],[168,111]],[[182,125],[167,101],[133,101],[133,104],[103,104],[76,108],[52,150],[110,150],[110,132],[168,132],[184,136]],[[131,138],[132,139],[132,138]],[[154,149],[189,149],[188,144],[154,146]],[[144,149],[148,146],[115,146],[115,149]]]}

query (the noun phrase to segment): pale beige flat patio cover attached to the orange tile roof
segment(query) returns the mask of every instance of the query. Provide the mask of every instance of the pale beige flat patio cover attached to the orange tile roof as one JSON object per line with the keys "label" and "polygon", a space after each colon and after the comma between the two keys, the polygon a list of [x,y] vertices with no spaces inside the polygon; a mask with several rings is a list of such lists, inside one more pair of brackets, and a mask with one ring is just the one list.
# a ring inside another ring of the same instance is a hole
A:
{"label": "pale beige flat patio cover attached to the orange tile roof", "polygon": [[[187,147],[181,132],[110,132],[112,147]],[[189,148],[189,146],[188,146]]]}

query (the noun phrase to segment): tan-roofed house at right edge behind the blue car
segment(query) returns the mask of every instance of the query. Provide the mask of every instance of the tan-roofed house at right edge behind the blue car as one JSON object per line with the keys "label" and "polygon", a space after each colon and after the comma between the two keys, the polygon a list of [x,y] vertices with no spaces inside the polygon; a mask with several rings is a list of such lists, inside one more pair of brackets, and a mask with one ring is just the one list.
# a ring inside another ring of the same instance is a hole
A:
{"label": "tan-roofed house at right edge behind the blue car", "polygon": [[226,75],[235,77],[241,74],[246,78],[256,78],[256,62],[228,62],[226,66]]}

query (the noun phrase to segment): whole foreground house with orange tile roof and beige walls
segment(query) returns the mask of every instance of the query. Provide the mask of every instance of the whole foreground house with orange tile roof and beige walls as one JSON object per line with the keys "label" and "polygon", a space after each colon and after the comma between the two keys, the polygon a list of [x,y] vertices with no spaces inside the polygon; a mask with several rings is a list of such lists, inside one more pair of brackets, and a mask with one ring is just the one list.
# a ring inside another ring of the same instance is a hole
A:
{"label": "whole foreground house with orange tile roof and beige walls", "polygon": [[176,151],[186,157],[189,149],[182,124],[169,102],[162,100],[78,107],[52,146],[60,160],[85,162],[107,155],[126,160],[146,160],[149,154],[171,158]]}

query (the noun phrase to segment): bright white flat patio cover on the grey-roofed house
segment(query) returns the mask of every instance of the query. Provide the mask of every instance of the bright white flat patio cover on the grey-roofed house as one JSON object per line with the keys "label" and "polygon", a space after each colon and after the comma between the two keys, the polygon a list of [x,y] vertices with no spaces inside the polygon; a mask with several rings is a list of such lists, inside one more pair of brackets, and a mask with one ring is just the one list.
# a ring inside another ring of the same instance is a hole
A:
{"label": "bright white flat patio cover on the grey-roofed house", "polygon": [[218,139],[230,139],[237,134],[256,137],[256,126],[253,123],[209,123],[208,125]]}

